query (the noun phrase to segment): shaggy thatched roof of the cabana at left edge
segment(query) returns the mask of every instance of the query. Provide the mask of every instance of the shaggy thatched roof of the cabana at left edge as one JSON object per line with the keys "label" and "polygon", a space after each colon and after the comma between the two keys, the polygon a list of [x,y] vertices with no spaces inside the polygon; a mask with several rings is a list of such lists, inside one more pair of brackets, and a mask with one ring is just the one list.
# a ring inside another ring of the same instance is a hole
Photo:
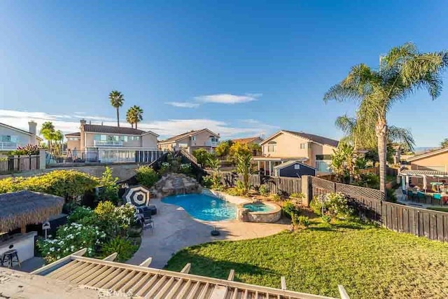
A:
{"label": "shaggy thatched roof of the cabana at left edge", "polygon": [[0,232],[24,228],[60,214],[64,198],[27,190],[0,194]]}

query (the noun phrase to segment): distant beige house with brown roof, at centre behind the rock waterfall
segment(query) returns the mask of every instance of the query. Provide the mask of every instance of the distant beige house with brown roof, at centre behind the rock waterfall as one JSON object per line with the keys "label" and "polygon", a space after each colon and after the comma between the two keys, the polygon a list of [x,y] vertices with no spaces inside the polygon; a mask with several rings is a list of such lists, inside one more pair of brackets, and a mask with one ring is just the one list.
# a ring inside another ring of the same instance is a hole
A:
{"label": "distant beige house with brown roof, at centre behind the rock waterfall", "polygon": [[159,141],[158,146],[162,151],[179,151],[185,149],[188,153],[193,153],[198,148],[205,148],[213,152],[218,146],[219,134],[211,132],[209,129],[190,131]]}

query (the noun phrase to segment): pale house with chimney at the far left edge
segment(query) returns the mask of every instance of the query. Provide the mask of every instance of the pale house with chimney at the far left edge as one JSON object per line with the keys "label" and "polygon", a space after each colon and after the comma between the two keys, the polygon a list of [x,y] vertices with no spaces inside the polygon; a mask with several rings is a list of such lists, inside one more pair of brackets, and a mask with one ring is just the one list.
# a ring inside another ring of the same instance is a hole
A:
{"label": "pale house with chimney at the far left edge", "polygon": [[19,146],[37,145],[42,139],[37,136],[37,123],[31,120],[28,131],[0,123],[0,153],[14,151]]}

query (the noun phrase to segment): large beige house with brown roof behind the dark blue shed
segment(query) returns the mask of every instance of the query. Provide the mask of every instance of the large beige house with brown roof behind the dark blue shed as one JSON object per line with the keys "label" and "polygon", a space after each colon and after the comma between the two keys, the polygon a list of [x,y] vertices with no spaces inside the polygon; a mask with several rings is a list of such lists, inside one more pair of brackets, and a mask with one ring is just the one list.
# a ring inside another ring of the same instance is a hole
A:
{"label": "large beige house with brown roof behind the dark blue shed", "polygon": [[331,155],[339,141],[304,132],[281,130],[260,143],[262,155],[253,157],[258,170],[270,175],[283,162],[297,161],[317,169],[318,174],[330,172]]}

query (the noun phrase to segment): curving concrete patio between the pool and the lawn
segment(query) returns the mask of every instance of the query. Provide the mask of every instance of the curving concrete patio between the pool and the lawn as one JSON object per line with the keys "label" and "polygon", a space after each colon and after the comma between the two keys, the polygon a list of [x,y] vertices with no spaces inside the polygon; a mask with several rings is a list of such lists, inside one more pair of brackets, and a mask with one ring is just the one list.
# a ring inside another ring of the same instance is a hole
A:
{"label": "curving concrete patio between the pool and the lawn", "polygon": [[[144,231],[141,246],[127,261],[129,264],[138,265],[151,256],[151,267],[162,268],[174,253],[187,246],[216,240],[254,239],[274,235],[288,228],[286,223],[198,221],[179,206],[165,204],[158,199],[151,200],[151,204],[155,204],[158,209],[158,214],[153,216],[153,234],[151,230]],[[218,237],[210,235],[214,226],[221,232]]]}

